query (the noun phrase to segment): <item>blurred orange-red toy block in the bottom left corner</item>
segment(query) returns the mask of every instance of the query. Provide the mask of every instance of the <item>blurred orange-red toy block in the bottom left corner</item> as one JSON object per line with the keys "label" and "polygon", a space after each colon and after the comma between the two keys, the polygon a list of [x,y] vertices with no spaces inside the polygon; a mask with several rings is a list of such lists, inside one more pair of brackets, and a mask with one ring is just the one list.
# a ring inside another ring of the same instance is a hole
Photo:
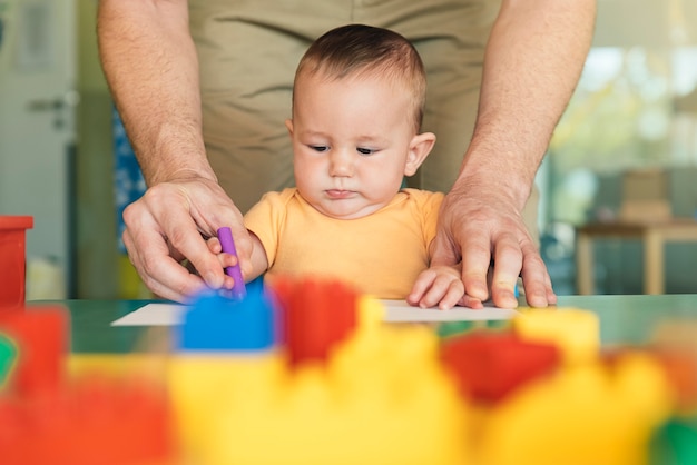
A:
{"label": "blurred orange-red toy block in the bottom left corner", "polygon": [[3,465],[165,465],[174,457],[164,392],[81,377],[60,392],[0,399]]}

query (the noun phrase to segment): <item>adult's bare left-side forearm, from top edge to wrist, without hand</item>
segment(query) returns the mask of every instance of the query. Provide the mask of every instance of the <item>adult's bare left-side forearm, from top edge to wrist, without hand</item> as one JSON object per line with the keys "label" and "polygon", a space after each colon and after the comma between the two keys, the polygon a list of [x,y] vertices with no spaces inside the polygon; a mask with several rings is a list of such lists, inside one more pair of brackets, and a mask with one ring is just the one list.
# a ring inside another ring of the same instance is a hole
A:
{"label": "adult's bare left-side forearm, from top edge to wrist, without hand", "polygon": [[100,0],[102,68],[149,186],[215,179],[206,159],[186,0]]}

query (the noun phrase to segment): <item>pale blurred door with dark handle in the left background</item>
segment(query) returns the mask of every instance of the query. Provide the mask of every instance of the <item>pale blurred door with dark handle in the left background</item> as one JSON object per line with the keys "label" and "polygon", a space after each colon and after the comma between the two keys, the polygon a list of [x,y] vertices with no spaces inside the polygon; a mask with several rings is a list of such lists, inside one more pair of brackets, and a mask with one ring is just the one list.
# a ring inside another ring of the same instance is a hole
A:
{"label": "pale blurred door with dark handle in the left background", "polygon": [[30,215],[27,297],[72,286],[75,0],[0,0],[0,215]]}

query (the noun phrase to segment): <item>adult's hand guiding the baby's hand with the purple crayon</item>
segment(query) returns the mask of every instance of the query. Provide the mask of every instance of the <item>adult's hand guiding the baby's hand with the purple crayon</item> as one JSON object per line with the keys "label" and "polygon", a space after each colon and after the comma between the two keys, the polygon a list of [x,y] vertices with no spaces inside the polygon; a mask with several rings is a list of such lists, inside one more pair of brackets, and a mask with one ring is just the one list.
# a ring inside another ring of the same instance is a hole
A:
{"label": "adult's hand guiding the baby's hand with the purple crayon", "polygon": [[[223,188],[206,178],[179,179],[150,187],[124,210],[124,243],[145,285],[156,295],[186,301],[206,287],[229,287],[205,238],[229,226],[243,269],[252,243],[242,214]],[[187,259],[196,273],[181,261]]]}

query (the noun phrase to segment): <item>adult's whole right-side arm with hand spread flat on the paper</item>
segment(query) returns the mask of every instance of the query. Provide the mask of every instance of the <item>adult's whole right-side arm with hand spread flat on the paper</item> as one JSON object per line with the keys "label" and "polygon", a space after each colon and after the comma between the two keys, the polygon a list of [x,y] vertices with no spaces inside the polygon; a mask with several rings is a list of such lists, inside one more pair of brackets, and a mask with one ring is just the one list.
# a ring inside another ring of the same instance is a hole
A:
{"label": "adult's whole right-side arm with hand spread flat on the paper", "polygon": [[467,296],[514,307],[557,297],[521,211],[590,48],[595,0],[503,0],[485,50],[479,115],[460,175],[445,197],[435,264],[462,258]]}

